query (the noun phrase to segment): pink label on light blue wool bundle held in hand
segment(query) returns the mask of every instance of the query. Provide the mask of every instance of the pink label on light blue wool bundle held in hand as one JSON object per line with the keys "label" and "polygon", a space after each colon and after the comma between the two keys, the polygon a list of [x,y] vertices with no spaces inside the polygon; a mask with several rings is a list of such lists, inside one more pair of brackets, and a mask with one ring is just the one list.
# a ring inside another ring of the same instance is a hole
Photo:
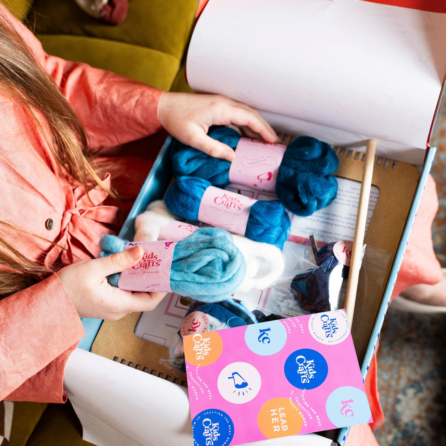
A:
{"label": "pink label on light blue wool bundle held in hand", "polygon": [[139,263],[123,271],[118,286],[126,291],[160,291],[172,293],[170,289],[170,268],[176,241],[131,242],[124,249],[141,245],[144,255]]}

